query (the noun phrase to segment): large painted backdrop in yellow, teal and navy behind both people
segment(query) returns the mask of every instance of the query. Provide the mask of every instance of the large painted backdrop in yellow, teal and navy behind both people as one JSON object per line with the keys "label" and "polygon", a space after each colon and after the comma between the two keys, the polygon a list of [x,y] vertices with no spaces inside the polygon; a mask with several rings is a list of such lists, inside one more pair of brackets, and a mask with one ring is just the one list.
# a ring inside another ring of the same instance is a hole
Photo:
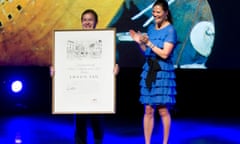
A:
{"label": "large painted backdrop in yellow, teal and navy behind both people", "polygon": [[[141,67],[144,57],[129,29],[146,32],[153,22],[154,0],[2,1],[0,9],[0,65],[49,66],[53,31],[79,29],[80,13],[93,8],[97,28],[115,27],[121,67]],[[178,68],[239,69],[238,0],[168,0],[178,45],[173,60]],[[46,10],[47,9],[47,10]],[[37,10],[37,11],[36,11]],[[76,48],[76,51],[78,49]]]}

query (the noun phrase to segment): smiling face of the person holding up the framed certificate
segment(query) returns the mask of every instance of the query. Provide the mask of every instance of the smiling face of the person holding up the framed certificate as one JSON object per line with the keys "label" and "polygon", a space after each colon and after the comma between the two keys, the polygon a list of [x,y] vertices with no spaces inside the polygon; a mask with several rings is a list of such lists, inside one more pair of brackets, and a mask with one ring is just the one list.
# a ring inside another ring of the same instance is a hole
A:
{"label": "smiling face of the person holding up the framed certificate", "polygon": [[82,29],[95,29],[96,19],[92,13],[86,13],[82,17]]}

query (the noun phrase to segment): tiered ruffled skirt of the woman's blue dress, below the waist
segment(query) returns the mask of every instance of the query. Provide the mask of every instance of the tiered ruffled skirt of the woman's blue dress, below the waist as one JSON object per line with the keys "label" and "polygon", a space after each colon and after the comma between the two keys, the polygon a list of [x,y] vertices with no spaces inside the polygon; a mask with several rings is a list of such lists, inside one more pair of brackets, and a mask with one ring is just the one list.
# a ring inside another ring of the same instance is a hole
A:
{"label": "tiered ruffled skirt of the woman's blue dress, below the waist", "polygon": [[151,87],[147,87],[146,78],[149,70],[149,65],[143,65],[140,81],[140,99],[142,104],[152,106],[167,106],[171,107],[176,103],[176,75],[173,65],[159,61],[161,70],[157,72],[156,79],[152,82]]}

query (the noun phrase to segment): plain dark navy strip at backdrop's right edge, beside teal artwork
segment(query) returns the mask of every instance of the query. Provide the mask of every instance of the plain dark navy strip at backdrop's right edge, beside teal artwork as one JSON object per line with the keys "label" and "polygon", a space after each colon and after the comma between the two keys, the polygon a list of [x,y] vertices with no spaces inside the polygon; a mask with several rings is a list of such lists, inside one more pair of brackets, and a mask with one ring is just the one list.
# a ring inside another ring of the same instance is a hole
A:
{"label": "plain dark navy strip at backdrop's right edge, beside teal artwork", "polygon": [[238,0],[209,0],[215,21],[215,42],[207,66],[216,69],[240,69]]}

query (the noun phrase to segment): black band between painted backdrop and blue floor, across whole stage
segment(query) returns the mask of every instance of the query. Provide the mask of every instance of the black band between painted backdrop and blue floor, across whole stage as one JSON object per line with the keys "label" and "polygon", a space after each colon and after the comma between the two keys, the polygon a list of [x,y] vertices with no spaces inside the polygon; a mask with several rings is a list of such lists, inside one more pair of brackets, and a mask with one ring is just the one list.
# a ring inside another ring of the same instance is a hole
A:
{"label": "black band between painted backdrop and blue floor, across whole stage", "polygon": [[[121,68],[117,75],[116,115],[141,117],[139,76],[141,68]],[[173,116],[239,117],[239,70],[176,69],[177,104]],[[14,77],[24,80],[24,90],[9,92]],[[1,67],[0,112],[51,113],[52,80],[48,67]]]}

